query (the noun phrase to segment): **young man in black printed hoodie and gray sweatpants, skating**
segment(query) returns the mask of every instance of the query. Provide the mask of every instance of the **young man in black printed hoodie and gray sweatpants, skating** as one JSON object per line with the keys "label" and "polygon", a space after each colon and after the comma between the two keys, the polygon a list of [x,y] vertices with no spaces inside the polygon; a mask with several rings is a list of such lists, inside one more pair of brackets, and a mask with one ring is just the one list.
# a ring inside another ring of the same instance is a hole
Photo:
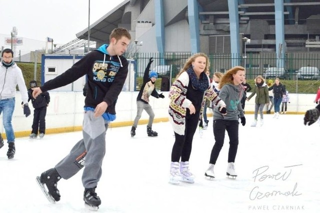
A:
{"label": "young man in black printed hoodie and gray sweatpants, skating", "polygon": [[[33,88],[32,96],[36,98],[41,92],[65,86],[87,75],[83,138],[59,163],[36,178],[42,191],[52,203],[60,200],[57,181],[72,177],[84,167],[82,184],[85,206],[97,210],[101,204],[95,188],[102,173],[105,132],[109,122],[115,119],[116,99],[128,73],[128,62],[121,55],[126,51],[130,39],[131,36],[126,29],[114,29],[109,36],[109,45],[102,45],[86,54],[61,75],[45,82],[41,87]],[[48,191],[44,188],[44,184]]]}

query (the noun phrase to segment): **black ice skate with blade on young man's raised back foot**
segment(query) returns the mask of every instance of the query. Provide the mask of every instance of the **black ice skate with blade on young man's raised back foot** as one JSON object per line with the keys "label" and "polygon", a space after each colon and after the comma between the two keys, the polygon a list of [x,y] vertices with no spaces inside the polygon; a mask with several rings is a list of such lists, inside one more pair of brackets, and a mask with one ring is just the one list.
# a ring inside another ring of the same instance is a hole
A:
{"label": "black ice skate with blade on young man's raised back foot", "polygon": [[[42,189],[44,195],[51,203],[60,200],[59,190],[56,188],[57,181],[61,179],[59,173],[55,168],[51,168],[47,171],[42,172],[41,176],[36,177],[36,182]],[[45,187],[45,186],[46,187]]]}

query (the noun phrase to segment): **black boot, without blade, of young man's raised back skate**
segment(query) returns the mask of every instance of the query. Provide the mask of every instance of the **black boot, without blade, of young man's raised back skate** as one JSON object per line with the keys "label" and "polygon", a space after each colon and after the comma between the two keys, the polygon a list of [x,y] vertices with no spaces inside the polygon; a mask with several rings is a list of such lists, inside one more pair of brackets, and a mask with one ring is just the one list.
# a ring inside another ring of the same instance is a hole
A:
{"label": "black boot, without blade, of young man's raised back skate", "polygon": [[51,168],[41,173],[40,183],[45,184],[48,190],[48,194],[55,200],[60,200],[60,193],[57,189],[57,182],[61,179],[59,173],[55,168]]}

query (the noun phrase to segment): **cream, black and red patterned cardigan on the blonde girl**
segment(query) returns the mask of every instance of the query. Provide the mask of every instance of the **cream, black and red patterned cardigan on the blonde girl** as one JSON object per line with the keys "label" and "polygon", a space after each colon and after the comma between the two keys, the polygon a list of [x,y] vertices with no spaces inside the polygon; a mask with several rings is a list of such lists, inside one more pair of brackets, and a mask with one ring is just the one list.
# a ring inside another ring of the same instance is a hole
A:
{"label": "cream, black and red patterned cardigan on the blonde girl", "polygon": [[[186,98],[188,84],[189,76],[187,72],[183,72],[173,82],[169,91],[169,121],[173,126],[174,132],[179,135],[184,135],[186,108],[191,104],[191,101]],[[224,102],[218,97],[215,92],[213,92],[212,88],[209,86],[208,89],[204,92],[202,98],[199,121],[201,119],[202,110],[205,103],[204,97],[210,100],[212,102],[212,105],[216,105],[217,107],[225,105]]]}

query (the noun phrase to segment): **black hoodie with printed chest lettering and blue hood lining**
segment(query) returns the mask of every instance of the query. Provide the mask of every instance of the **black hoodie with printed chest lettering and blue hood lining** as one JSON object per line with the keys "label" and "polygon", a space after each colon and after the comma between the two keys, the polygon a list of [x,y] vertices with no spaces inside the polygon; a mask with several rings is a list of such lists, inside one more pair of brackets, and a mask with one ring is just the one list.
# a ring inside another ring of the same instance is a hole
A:
{"label": "black hoodie with printed chest lettering and blue hood lining", "polygon": [[95,108],[105,101],[106,112],[115,114],[115,103],[128,73],[128,62],[123,56],[110,56],[102,45],[85,55],[61,75],[40,87],[42,92],[65,86],[87,75],[88,89],[84,107]]}

